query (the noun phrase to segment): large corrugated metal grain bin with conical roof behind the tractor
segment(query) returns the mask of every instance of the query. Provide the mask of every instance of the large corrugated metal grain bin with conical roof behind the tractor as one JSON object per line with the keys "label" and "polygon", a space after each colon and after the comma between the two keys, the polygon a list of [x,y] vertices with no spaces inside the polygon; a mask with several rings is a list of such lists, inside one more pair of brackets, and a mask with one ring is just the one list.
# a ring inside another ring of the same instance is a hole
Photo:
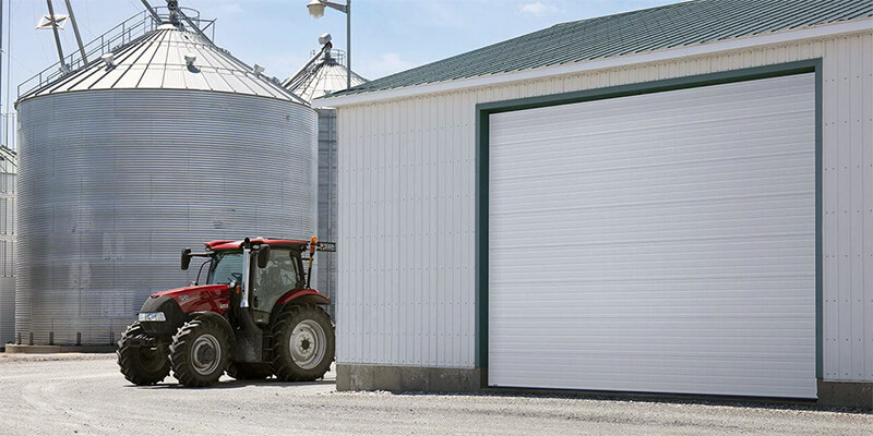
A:
{"label": "large corrugated metal grain bin with conical roof behind the tractor", "polygon": [[174,25],[112,55],[17,102],[24,341],[118,339],[182,247],[315,232],[314,110]]}

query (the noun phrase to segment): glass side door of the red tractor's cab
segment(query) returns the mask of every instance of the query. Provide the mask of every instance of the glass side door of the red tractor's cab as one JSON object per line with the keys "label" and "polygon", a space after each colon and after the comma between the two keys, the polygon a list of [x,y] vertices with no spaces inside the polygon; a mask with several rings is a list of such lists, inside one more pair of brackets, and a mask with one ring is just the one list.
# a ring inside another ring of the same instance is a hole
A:
{"label": "glass side door of the red tractor's cab", "polygon": [[276,301],[300,284],[300,253],[272,249],[265,268],[252,268],[251,307],[256,323],[268,323]]}

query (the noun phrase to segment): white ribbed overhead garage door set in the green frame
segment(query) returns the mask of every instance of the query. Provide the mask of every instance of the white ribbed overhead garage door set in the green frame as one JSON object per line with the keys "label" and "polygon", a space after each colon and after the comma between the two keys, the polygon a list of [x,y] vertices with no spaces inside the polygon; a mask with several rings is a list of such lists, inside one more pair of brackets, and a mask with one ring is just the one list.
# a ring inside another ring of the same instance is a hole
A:
{"label": "white ribbed overhead garage door set in the green frame", "polygon": [[491,386],[815,398],[813,74],[490,135]]}

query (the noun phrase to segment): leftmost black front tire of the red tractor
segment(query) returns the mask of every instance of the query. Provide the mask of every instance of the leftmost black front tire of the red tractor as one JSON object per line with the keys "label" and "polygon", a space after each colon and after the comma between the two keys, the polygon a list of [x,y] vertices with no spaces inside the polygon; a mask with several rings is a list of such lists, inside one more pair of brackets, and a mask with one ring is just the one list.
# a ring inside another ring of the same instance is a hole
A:
{"label": "leftmost black front tire of the red tractor", "polygon": [[166,346],[140,347],[140,341],[148,339],[140,323],[131,324],[118,341],[118,366],[128,382],[136,386],[150,386],[170,375],[169,350]]}

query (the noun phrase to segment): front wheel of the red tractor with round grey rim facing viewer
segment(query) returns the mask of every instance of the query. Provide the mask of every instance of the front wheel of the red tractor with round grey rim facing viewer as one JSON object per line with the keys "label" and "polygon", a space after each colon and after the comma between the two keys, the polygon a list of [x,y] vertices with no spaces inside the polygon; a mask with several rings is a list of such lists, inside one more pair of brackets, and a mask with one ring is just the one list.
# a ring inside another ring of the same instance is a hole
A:
{"label": "front wheel of the red tractor with round grey rim facing viewer", "polygon": [[190,320],[172,337],[172,376],[184,386],[214,385],[227,368],[229,352],[222,326],[208,319]]}

